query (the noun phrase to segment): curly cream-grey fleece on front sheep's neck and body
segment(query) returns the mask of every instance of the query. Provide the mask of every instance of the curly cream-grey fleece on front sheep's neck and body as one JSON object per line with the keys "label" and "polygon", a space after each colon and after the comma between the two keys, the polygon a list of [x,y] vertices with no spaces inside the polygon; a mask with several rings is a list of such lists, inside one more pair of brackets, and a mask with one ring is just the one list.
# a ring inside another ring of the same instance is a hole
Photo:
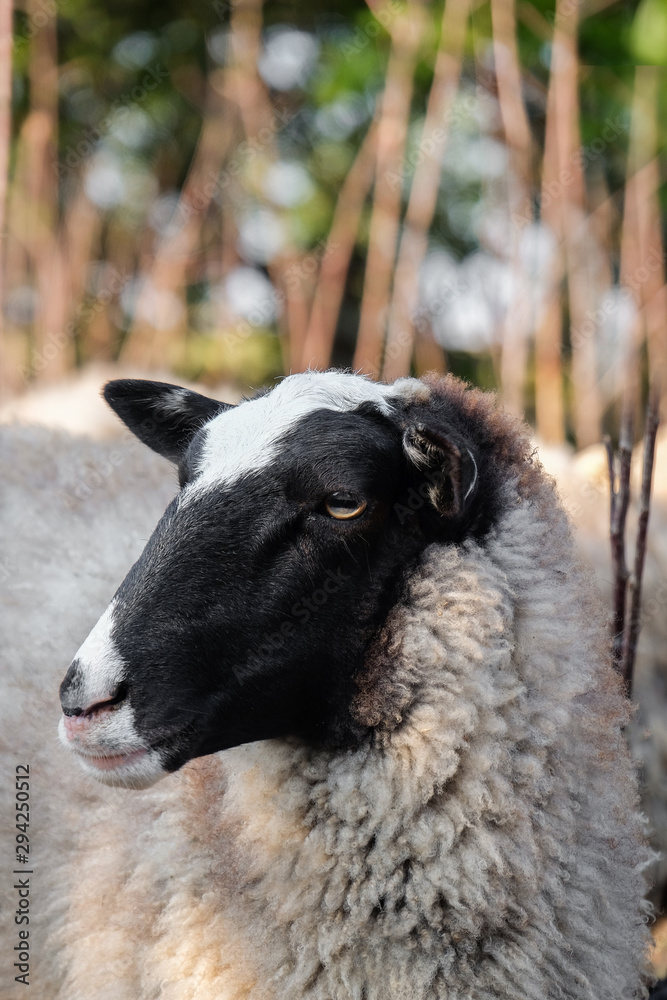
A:
{"label": "curly cream-grey fleece on front sheep's neck and body", "polygon": [[79,836],[43,845],[40,997],[644,995],[628,709],[565,515],[521,463],[491,535],[428,548],[389,616],[365,746],[251,744],[139,793],[61,778]]}

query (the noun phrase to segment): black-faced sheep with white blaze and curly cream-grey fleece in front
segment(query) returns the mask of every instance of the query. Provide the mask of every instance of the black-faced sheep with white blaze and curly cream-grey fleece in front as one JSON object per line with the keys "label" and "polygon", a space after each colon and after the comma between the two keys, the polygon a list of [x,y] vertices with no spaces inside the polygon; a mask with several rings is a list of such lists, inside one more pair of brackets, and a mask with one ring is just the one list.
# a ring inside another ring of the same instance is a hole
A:
{"label": "black-faced sheep with white blaze and curly cream-grey fleece in front", "polygon": [[644,996],[629,710],[525,430],[453,378],[105,395],[180,491],[60,687],[40,997]]}

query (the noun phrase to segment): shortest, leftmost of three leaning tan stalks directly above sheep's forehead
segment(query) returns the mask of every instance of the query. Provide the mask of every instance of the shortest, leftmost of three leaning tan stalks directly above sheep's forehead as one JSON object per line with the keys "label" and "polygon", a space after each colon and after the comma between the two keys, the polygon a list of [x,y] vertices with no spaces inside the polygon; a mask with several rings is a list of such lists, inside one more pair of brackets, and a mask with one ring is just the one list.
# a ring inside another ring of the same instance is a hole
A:
{"label": "shortest, leftmost of three leaning tan stalks directly above sheep's forehead", "polygon": [[331,363],[345,281],[361,213],[373,183],[376,153],[377,124],[373,122],[336,201],[303,343],[302,368],[327,368]]}

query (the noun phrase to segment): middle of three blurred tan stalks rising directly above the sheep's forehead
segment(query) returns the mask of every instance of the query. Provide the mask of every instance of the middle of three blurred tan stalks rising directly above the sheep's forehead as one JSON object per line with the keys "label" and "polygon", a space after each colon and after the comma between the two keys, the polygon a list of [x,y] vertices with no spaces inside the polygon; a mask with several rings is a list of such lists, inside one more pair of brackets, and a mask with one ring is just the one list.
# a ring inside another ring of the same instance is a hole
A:
{"label": "middle of three blurred tan stalks rising directly above the sheep's forehead", "polygon": [[354,368],[377,377],[396,256],[404,151],[417,53],[426,18],[412,3],[391,22],[391,49],[378,124],[375,192]]}

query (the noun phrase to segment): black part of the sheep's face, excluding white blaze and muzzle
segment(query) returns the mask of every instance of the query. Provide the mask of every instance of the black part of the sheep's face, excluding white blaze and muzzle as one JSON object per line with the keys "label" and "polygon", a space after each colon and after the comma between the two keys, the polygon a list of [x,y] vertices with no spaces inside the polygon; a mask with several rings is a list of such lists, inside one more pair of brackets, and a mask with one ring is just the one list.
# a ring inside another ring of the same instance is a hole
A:
{"label": "black part of the sheep's face, excluding white blaze and muzzle", "polygon": [[[189,430],[181,412],[178,443],[164,443],[175,407],[156,432],[146,390],[129,412],[142,385],[111,383],[107,397],[132,429],[143,418],[140,436],[178,461],[184,486],[119,588],[109,636],[142,741],[168,770],[271,737],[357,742],[355,676],[406,575],[431,541],[479,521],[473,451],[368,404],[322,409],[270,464],[199,488],[202,397]],[[208,403],[205,420],[222,409]]]}

